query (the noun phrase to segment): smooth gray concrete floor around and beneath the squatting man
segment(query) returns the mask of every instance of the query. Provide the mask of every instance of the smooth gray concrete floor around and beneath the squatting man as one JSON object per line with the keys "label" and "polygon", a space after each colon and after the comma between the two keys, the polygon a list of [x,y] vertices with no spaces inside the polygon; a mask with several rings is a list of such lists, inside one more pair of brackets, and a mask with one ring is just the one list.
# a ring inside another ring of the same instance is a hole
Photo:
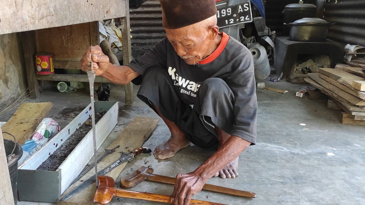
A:
{"label": "smooth gray concrete floor around and beneath the squatting man", "polygon": [[[364,126],[340,124],[339,111],[327,109],[325,100],[295,97],[295,92],[304,85],[264,82],[268,86],[289,92],[281,94],[257,90],[257,144],[240,155],[238,178],[212,178],[208,181],[215,185],[255,192],[257,197],[249,199],[201,191],[193,198],[231,205],[365,204]],[[135,92],[137,89],[135,87]],[[89,104],[89,96],[84,90],[74,93],[45,91],[37,101],[53,102],[49,116],[53,116],[64,127],[74,116],[62,116],[60,111],[85,107]],[[133,117],[158,117],[137,97],[132,105],[125,105],[122,86],[112,86],[110,101],[121,102],[120,117],[102,147],[107,147]],[[7,120],[10,114],[0,116],[1,120]],[[168,138],[169,130],[160,119],[145,146],[154,148]],[[326,152],[333,155],[327,155]],[[178,173],[193,171],[212,153],[191,145],[167,160],[157,160],[153,155],[145,154],[141,156],[143,159],[128,163],[120,176],[125,177],[141,166],[151,165],[154,173],[174,177]],[[145,181],[132,190],[169,195],[173,186]],[[18,202],[18,205],[45,204]],[[111,204],[158,203],[115,198]]]}

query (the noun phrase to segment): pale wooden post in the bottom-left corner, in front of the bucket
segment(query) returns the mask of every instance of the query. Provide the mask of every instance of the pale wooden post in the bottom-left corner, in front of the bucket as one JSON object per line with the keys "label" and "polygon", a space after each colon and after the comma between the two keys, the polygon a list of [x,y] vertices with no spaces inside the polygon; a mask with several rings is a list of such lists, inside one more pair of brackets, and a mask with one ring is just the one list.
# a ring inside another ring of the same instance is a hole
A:
{"label": "pale wooden post in the bottom-left corner, in front of the bucket", "polygon": [[6,160],[3,134],[0,127],[0,204],[14,205],[8,162]]}

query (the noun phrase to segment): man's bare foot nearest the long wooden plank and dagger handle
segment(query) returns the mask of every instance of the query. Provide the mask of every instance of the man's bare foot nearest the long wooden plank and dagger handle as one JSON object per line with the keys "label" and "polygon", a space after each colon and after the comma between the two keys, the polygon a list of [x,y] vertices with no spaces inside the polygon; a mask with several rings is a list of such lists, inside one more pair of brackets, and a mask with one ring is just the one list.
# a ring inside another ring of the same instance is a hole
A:
{"label": "man's bare foot nearest the long wooden plank and dagger handle", "polygon": [[185,136],[171,136],[165,143],[160,144],[155,148],[153,155],[155,155],[155,158],[157,159],[167,159],[173,157],[177,151],[189,146],[189,144],[190,141],[185,138]]}

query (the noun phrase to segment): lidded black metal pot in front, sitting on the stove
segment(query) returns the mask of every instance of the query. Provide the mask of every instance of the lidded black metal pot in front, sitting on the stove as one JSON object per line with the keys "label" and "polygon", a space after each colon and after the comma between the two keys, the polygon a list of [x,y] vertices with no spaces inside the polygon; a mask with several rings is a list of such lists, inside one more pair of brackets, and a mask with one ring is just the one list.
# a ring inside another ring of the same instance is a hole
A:
{"label": "lidded black metal pot in front, sitting on the stove", "polygon": [[327,30],[335,23],[319,18],[303,18],[293,23],[284,23],[290,27],[289,40],[301,42],[326,41]]}

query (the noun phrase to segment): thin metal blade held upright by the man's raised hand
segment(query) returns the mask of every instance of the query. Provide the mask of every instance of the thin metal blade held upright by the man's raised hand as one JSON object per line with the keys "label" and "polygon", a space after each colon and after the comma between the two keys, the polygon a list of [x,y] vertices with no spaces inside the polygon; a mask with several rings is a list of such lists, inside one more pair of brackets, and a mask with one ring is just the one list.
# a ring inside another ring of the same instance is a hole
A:
{"label": "thin metal blade held upright by the man's raised hand", "polygon": [[87,70],[90,86],[90,99],[91,99],[91,121],[92,121],[92,140],[94,144],[94,161],[95,161],[95,180],[97,187],[97,157],[96,157],[96,136],[95,136],[95,107],[94,107],[94,81],[95,81],[95,71],[93,71],[93,61],[92,61],[92,46],[90,46],[91,62],[90,70]]}

